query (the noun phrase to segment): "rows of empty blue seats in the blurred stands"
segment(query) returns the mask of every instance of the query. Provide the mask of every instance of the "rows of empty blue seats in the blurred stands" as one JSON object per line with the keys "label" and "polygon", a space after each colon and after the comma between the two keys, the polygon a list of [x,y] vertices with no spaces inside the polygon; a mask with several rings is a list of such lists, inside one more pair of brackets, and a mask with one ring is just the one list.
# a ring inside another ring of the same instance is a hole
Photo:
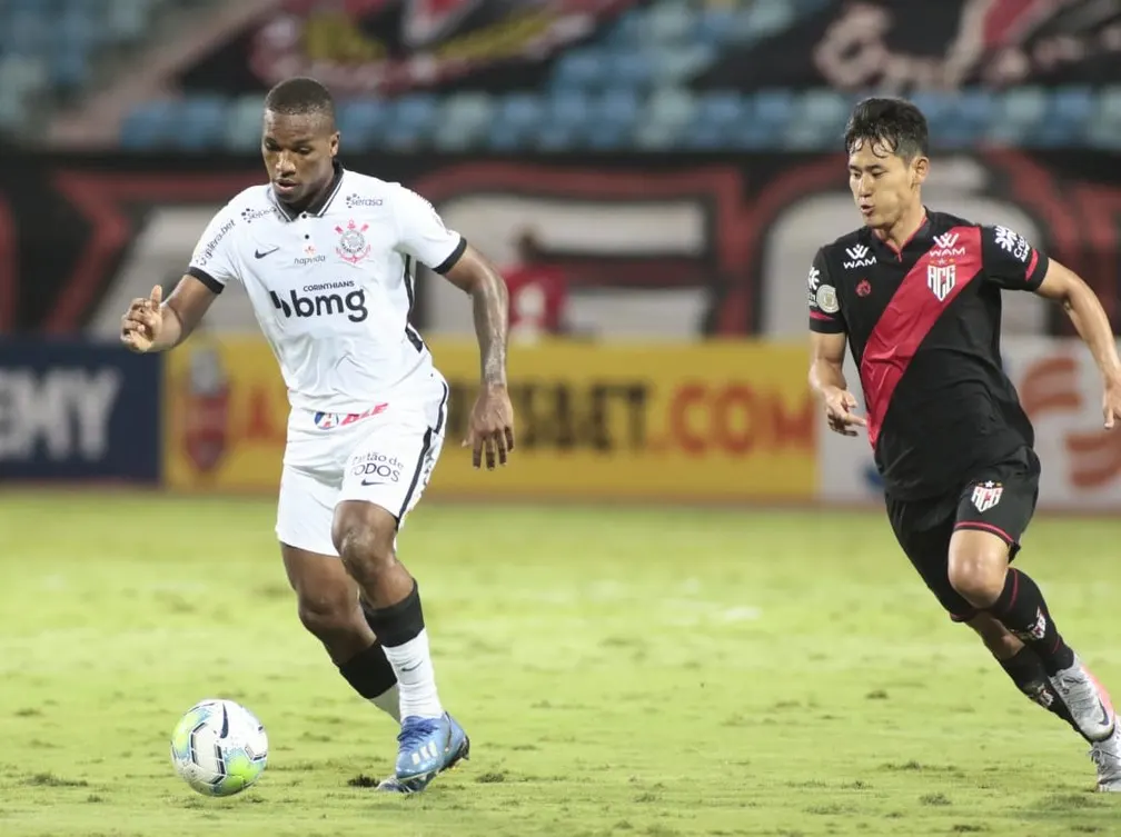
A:
{"label": "rows of empty blue seats in the blurred stands", "polygon": [[[915,3],[904,0],[899,6]],[[424,3],[417,0],[417,4]],[[527,0],[527,8],[532,4]],[[1023,6],[1029,4],[1025,0]],[[143,78],[146,71],[138,67],[146,66],[145,56],[151,55],[154,45],[174,44],[176,32],[178,41],[198,40],[204,25],[215,25],[217,12],[231,16],[228,35],[233,48],[248,52],[254,41],[233,29],[260,29],[269,15],[290,12],[286,19],[306,22],[327,13],[324,9],[337,17],[343,13],[337,10],[377,6],[0,0],[0,125],[17,139],[41,136],[50,112],[76,110],[83,93],[111,86],[113,80],[129,81],[137,74]],[[840,8],[832,0],[658,0],[618,6],[619,13],[604,16],[565,48],[531,67],[518,65],[524,73],[507,72],[506,77],[484,73],[478,83],[467,77],[391,92],[341,92],[339,120],[348,150],[832,150],[852,103],[868,93],[822,84],[739,87],[729,82],[736,76],[736,56],[750,61],[754,50],[780,44],[806,21]],[[511,8],[508,4],[502,13],[513,15]],[[294,17],[295,9],[302,17]],[[235,19],[239,11],[252,15]],[[870,19],[862,25],[873,24]],[[309,48],[307,31],[294,36],[304,41],[297,48]],[[332,48],[324,38],[340,40],[340,55],[363,50],[377,55],[381,49],[356,20],[352,28],[321,26],[316,32],[314,46],[319,50]],[[773,49],[761,52],[760,61],[772,55]],[[189,53],[185,56],[189,64]],[[177,86],[169,72],[169,83],[166,89],[157,85],[158,94],[149,90],[124,102],[118,96],[112,139],[135,150],[256,149],[267,84],[257,90],[223,89],[221,80],[237,75],[224,73],[222,62],[230,62],[230,56],[226,49],[206,59],[213,64],[210,74],[195,68],[195,76],[214,80],[209,89],[197,82]],[[808,65],[813,58],[799,54],[790,61]],[[723,73],[722,65],[728,67]],[[355,73],[369,67],[367,63]],[[974,83],[951,92],[919,90],[912,99],[928,114],[939,148],[981,142],[1121,148],[1121,83],[1010,87]],[[87,119],[93,118],[87,114]],[[92,123],[81,130],[74,125],[72,121],[72,140],[100,136]]]}

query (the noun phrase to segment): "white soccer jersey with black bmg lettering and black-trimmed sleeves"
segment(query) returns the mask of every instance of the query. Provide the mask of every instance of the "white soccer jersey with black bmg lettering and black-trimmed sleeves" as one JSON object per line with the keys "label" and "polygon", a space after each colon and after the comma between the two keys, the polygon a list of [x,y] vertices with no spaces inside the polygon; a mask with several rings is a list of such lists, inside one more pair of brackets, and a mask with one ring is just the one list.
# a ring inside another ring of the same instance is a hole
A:
{"label": "white soccer jersey with black bmg lettering and black-trimmed sleeves", "polygon": [[294,408],[360,412],[429,378],[408,323],[416,262],[444,272],[465,248],[416,193],[336,164],[326,198],[298,215],[268,185],[234,197],[187,272],[215,292],[244,286]]}

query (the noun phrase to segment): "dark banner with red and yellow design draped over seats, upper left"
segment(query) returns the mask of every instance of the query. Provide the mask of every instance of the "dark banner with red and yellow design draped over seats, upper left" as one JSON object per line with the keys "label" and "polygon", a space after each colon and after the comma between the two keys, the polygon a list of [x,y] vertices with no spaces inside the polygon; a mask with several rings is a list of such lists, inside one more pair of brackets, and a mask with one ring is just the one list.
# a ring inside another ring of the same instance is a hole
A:
{"label": "dark banner with red and yellow design draped over seats, upper left", "polygon": [[263,92],[313,75],[339,97],[522,89],[636,0],[287,0],[198,56],[185,90]]}

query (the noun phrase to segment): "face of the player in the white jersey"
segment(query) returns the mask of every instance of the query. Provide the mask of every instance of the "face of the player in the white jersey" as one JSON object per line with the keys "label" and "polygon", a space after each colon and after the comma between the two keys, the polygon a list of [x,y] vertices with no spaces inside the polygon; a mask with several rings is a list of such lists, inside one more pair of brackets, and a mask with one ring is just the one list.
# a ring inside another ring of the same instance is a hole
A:
{"label": "face of the player in the white jersey", "polygon": [[272,190],[285,204],[311,199],[331,180],[339,132],[321,113],[265,111],[261,155]]}

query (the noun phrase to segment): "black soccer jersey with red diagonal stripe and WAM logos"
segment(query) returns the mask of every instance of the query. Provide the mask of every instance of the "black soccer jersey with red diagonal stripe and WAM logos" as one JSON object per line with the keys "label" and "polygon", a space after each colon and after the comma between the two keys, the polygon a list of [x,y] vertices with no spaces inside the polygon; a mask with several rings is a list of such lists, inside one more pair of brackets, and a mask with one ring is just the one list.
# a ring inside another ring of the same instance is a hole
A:
{"label": "black soccer jersey with red diagonal stripe and WAM logos", "polygon": [[1007,227],[937,212],[899,251],[867,227],[817,251],[809,327],[847,335],[893,497],[956,491],[971,471],[1034,444],[1002,369],[1000,294],[1036,290],[1047,266]]}

